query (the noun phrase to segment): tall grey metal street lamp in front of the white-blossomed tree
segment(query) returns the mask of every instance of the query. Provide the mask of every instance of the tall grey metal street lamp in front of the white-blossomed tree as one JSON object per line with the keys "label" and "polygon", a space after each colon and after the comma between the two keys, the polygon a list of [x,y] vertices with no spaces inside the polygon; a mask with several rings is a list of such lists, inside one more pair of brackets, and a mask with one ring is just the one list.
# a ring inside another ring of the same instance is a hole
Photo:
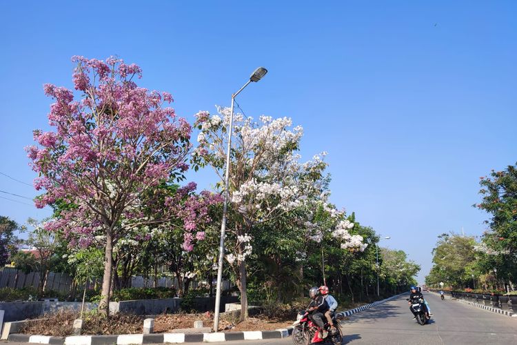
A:
{"label": "tall grey metal street lamp in front of the white-blossomed tree", "polygon": [[219,308],[221,308],[221,283],[223,281],[223,261],[225,254],[225,232],[226,232],[226,215],[228,210],[228,199],[230,198],[230,150],[232,149],[232,128],[234,122],[234,103],[235,97],[241,93],[246,86],[252,81],[259,81],[265,76],[267,70],[263,67],[257,68],[250,80],[246,81],[244,86],[232,95],[232,105],[230,106],[230,125],[228,126],[228,147],[226,150],[226,167],[225,167],[225,190],[224,190],[224,201],[223,201],[223,219],[221,220],[221,239],[219,239],[219,263],[217,266],[217,288],[216,288],[216,300],[215,300],[215,311],[214,311],[214,332],[219,331]]}

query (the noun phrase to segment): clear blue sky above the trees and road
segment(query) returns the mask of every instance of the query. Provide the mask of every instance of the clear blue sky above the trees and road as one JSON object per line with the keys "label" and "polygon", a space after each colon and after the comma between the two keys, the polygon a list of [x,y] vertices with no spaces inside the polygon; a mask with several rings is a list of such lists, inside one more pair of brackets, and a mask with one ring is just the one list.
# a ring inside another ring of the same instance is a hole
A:
{"label": "clear blue sky above the trees and road", "polygon": [[[42,86],[72,88],[72,55],[139,64],[188,119],[265,66],[239,95],[245,114],[303,126],[302,155],[330,154],[332,201],[423,278],[438,234],[484,230],[479,177],[517,161],[516,17],[515,1],[1,1],[0,172],[31,183]],[[0,190],[35,195],[3,175]],[[49,214],[0,197],[19,222]]]}

